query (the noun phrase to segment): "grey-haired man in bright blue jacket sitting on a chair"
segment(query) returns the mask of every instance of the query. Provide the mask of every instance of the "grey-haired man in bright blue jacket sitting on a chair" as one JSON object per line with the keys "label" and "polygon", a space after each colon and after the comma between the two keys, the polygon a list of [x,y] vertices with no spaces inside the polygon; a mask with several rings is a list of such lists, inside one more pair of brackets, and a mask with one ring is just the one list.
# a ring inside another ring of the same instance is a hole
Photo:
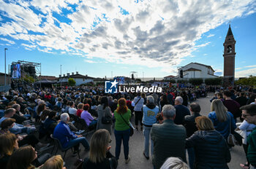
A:
{"label": "grey-haired man in bright blue jacket sitting on a chair", "polygon": [[83,137],[83,135],[76,135],[73,133],[70,130],[69,125],[67,125],[67,122],[69,122],[69,114],[61,114],[61,122],[59,122],[59,124],[55,127],[53,137],[57,138],[61,142],[61,146],[64,148],[74,146],[74,154],[78,152],[80,143],[83,144],[86,152],[89,151],[90,146],[86,138]]}

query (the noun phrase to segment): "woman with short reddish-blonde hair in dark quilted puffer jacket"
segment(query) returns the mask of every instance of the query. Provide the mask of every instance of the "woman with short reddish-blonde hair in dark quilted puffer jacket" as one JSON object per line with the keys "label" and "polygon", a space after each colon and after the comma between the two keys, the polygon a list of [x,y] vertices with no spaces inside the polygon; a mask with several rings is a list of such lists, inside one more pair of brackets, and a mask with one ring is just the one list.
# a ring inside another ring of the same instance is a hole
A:
{"label": "woman with short reddish-blonde hair in dark quilted puffer jacket", "polygon": [[195,149],[195,169],[228,169],[227,162],[231,160],[230,151],[222,135],[214,130],[211,119],[197,117],[195,123],[198,131],[186,139],[186,148]]}

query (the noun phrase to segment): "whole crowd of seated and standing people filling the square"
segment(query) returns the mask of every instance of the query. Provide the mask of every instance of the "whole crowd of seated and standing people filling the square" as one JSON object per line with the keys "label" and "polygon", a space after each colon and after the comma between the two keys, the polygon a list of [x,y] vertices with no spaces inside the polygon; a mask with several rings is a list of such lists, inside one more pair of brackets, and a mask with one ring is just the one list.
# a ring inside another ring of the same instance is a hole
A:
{"label": "whole crowd of seated and standing people filling the square", "polygon": [[[205,117],[193,101],[208,92],[215,95]],[[81,144],[89,152],[81,168],[117,168],[122,143],[125,163],[132,160],[129,139],[134,130],[143,131],[142,157],[157,169],[228,168],[234,146],[228,140],[234,132],[243,135],[247,162],[241,168],[256,168],[256,97],[242,87],[112,95],[103,87],[10,90],[1,93],[0,109],[1,168],[65,168],[66,152],[63,158],[48,153],[54,141],[62,149],[73,149],[74,157],[80,157]]]}

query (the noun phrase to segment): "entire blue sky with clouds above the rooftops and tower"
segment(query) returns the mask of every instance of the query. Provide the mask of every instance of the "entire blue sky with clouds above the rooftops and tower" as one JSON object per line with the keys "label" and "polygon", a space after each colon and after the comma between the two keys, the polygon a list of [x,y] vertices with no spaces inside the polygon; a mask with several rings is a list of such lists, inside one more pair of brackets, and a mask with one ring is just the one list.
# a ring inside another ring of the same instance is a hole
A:
{"label": "entire blue sky with clouds above the rooftops and tower", "polygon": [[256,75],[255,12],[255,0],[0,0],[0,72],[7,48],[7,67],[41,63],[48,76],[176,76],[191,62],[222,76],[230,24],[235,76]]}

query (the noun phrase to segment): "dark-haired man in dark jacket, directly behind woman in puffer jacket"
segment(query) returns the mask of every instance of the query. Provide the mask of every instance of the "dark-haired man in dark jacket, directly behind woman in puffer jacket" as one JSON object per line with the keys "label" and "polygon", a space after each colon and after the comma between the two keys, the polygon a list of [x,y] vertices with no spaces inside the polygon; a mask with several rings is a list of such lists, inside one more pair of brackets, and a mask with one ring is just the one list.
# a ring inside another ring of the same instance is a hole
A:
{"label": "dark-haired man in dark jacket, directly behind woman in puffer jacket", "polygon": [[[197,126],[195,124],[195,118],[200,117],[200,105],[197,103],[191,103],[190,104],[190,112],[192,115],[187,115],[184,118],[184,127],[186,127],[187,131],[187,138],[189,138],[192,134],[197,131]],[[189,167],[190,169],[194,168],[194,161],[195,161],[195,152],[194,148],[187,149],[187,153],[189,154]]]}

